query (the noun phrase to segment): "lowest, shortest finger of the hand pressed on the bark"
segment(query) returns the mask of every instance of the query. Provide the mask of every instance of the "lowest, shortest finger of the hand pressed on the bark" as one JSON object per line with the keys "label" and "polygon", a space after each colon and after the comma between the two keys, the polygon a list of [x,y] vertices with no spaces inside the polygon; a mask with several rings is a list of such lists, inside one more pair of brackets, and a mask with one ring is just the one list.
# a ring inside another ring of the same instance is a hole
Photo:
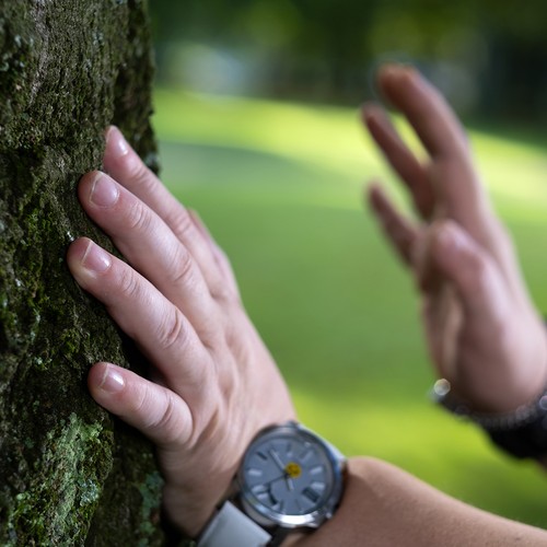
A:
{"label": "lowest, shortest finger of the hand pressed on the bark", "polygon": [[90,370],[88,386],[102,407],[161,447],[184,445],[191,435],[191,412],[186,403],[131,371],[97,363]]}

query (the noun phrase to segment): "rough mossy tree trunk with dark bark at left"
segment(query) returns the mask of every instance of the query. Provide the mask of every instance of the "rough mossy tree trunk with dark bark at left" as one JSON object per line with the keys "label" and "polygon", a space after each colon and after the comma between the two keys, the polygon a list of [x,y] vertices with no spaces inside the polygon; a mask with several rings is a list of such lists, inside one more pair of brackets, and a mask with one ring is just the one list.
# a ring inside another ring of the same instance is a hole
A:
{"label": "rough mossy tree trunk with dark bark at left", "polygon": [[[75,185],[118,125],[150,165],[144,0],[0,0],[0,545],[160,545],[151,446],[90,398],[131,347],[72,281]],[[133,364],[132,364],[133,365]]]}

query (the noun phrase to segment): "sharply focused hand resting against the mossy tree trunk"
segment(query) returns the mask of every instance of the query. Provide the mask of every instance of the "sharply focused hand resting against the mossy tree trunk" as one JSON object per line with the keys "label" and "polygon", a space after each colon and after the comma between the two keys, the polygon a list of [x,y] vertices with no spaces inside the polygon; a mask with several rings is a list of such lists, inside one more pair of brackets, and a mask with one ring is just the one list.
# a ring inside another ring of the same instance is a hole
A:
{"label": "sharply focused hand resting against the mossy tree trunk", "polygon": [[88,214],[127,263],[82,237],[68,264],[154,366],[151,379],[96,363],[95,400],[158,447],[171,520],[197,535],[228,494],[244,450],[294,419],[287,386],[248,319],[230,264],[195,213],[171,196],[121,133],[80,182]]}

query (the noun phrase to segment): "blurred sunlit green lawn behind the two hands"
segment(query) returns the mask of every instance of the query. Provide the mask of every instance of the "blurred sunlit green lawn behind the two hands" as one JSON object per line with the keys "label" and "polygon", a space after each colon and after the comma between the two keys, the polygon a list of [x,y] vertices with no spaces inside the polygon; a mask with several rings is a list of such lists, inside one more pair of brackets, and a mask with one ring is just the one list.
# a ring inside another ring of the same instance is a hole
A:
{"label": "blurred sunlit green lawn behind the two hands", "polygon": [[[546,477],[427,398],[433,376],[415,290],[362,211],[363,183],[382,177],[404,199],[357,109],[166,90],[156,91],[155,109],[162,177],[231,257],[301,420],[348,455],[384,458],[475,505],[547,527]],[[547,310],[547,149],[501,130],[470,139]]]}

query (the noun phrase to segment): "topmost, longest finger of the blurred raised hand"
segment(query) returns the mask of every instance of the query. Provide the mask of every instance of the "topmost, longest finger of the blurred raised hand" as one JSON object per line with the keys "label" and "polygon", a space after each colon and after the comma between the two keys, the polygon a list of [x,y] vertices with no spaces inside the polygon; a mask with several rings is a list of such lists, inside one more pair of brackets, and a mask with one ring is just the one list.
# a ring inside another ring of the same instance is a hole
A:
{"label": "topmost, longest finger of the blurred raised hand", "polygon": [[433,159],[467,160],[467,138],[444,97],[410,67],[387,66],[379,85],[414,127]]}

